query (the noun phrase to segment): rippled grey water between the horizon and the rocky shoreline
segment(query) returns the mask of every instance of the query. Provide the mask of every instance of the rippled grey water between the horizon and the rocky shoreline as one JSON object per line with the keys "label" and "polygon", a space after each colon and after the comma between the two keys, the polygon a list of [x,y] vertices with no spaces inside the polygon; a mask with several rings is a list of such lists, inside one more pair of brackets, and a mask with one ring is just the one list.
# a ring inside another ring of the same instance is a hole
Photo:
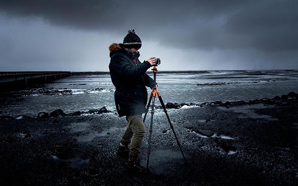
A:
{"label": "rippled grey water between the horizon and the rocky shoreline", "polygon": [[[153,74],[149,74],[153,78]],[[298,70],[157,72],[158,91],[166,104],[248,101],[298,93]],[[110,75],[77,75],[35,88],[10,92],[0,99],[0,115],[36,116],[62,109],[65,113],[114,106]],[[148,88],[148,95],[150,95]],[[160,105],[156,99],[155,105]]]}

